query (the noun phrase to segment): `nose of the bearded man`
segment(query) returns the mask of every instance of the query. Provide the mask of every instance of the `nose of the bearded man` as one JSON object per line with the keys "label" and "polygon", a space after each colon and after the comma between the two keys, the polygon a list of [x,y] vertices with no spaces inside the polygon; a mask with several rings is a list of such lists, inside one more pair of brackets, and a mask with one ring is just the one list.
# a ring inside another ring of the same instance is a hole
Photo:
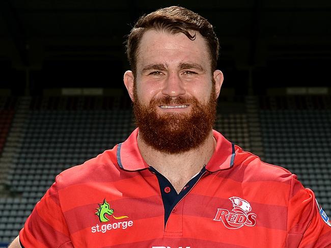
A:
{"label": "nose of the bearded man", "polygon": [[186,90],[179,75],[177,73],[170,73],[166,80],[164,80],[162,94],[177,97],[185,93]]}

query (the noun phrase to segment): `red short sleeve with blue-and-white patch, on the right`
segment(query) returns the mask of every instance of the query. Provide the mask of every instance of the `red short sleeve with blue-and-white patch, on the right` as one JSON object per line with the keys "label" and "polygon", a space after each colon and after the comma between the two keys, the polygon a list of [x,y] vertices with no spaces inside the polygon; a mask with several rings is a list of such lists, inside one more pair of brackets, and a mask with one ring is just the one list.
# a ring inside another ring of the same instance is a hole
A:
{"label": "red short sleeve with blue-and-white patch, on the right", "polygon": [[314,192],[292,175],[288,202],[288,248],[331,247],[331,224]]}

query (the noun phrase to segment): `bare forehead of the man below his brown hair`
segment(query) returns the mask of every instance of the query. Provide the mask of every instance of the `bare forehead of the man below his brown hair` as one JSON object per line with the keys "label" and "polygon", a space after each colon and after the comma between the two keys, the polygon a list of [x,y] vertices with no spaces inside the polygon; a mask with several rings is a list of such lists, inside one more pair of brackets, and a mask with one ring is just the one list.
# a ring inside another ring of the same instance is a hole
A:
{"label": "bare forehead of the man below his brown hair", "polygon": [[201,64],[206,69],[210,65],[207,42],[199,32],[196,32],[195,40],[190,40],[183,33],[145,32],[137,52],[137,70],[153,63],[175,65],[186,62]]}

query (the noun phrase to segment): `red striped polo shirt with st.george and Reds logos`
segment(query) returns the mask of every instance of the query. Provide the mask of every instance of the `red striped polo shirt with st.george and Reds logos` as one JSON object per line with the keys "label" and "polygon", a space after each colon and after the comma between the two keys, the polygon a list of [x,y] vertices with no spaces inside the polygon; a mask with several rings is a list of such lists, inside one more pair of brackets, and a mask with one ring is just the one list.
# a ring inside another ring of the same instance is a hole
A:
{"label": "red striped polo shirt with st.george and Reds logos", "polygon": [[28,247],[331,247],[328,217],[287,170],[213,131],[208,164],[177,194],[128,139],[57,176],[20,231]]}

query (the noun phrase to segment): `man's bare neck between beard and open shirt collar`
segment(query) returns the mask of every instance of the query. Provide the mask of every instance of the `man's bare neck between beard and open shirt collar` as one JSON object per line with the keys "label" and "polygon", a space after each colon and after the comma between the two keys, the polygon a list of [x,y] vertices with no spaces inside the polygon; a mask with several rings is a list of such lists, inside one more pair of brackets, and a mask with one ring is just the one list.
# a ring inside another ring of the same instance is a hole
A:
{"label": "man's bare neck between beard and open shirt collar", "polygon": [[216,147],[212,130],[199,147],[179,154],[157,151],[148,146],[141,135],[138,135],[137,142],[147,164],[166,177],[177,192],[208,163]]}

